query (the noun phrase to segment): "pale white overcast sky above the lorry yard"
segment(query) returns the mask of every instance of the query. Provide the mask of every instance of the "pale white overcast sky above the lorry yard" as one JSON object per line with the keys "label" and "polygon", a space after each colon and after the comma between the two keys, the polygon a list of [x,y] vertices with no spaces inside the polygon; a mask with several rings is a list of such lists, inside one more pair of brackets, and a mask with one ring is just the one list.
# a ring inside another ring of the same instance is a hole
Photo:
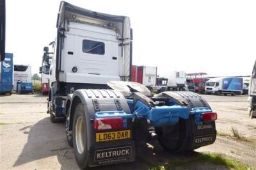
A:
{"label": "pale white overcast sky above the lorry yard", "polygon": [[[256,59],[256,1],[75,1],[126,15],[134,32],[133,65],[209,76],[250,75]],[[56,37],[59,0],[7,0],[6,52],[38,73],[43,47]]]}

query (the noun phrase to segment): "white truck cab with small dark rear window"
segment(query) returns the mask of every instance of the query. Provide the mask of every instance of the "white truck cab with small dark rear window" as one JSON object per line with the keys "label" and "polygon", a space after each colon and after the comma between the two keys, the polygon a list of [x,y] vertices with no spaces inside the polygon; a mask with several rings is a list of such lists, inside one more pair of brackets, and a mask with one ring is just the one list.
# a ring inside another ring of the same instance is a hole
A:
{"label": "white truck cab with small dark rear window", "polygon": [[57,29],[50,67],[52,95],[130,80],[132,32],[128,17],[61,2]]}

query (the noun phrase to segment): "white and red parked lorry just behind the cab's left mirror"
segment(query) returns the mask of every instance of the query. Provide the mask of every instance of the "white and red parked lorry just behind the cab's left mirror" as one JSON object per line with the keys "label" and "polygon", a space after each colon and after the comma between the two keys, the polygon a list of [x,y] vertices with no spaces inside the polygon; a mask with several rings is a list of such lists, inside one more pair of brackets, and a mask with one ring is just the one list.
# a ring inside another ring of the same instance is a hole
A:
{"label": "white and red parked lorry just behind the cab's left mirror", "polygon": [[42,92],[42,95],[48,95],[48,93],[49,93],[50,65],[40,66],[39,73],[41,73],[41,92]]}

